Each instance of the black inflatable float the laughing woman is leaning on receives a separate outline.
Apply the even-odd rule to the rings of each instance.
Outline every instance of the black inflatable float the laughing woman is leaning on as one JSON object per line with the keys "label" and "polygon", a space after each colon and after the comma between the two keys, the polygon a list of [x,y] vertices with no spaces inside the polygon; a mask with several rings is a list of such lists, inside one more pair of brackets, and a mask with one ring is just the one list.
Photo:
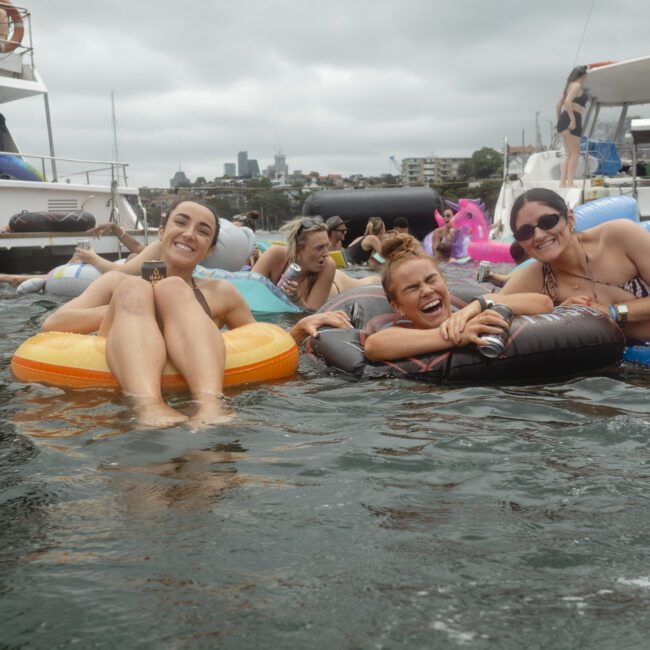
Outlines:
{"label": "black inflatable float the laughing woman is leaning on", "polygon": [[[452,299],[456,305],[464,301]],[[359,287],[328,301],[320,311],[342,309],[355,329],[321,328],[307,350],[333,368],[355,377],[394,375],[432,383],[535,383],[608,369],[623,358],[625,338],[602,312],[589,307],[557,307],[550,314],[517,316],[504,353],[487,359],[474,345],[407,359],[372,363],[365,338],[399,315],[381,287]],[[408,330],[405,330],[408,336]]]}

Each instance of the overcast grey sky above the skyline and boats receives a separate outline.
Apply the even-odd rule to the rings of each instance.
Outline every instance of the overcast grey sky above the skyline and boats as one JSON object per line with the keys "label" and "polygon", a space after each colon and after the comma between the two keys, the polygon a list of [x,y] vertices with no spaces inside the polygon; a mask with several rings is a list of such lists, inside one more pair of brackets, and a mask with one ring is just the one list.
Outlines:
{"label": "overcast grey sky above the skyline and boats", "polygon": [[[129,184],[261,169],[380,175],[419,156],[548,144],[574,65],[650,54],[647,0],[22,0],[56,154]],[[0,107],[48,150],[42,98]]]}

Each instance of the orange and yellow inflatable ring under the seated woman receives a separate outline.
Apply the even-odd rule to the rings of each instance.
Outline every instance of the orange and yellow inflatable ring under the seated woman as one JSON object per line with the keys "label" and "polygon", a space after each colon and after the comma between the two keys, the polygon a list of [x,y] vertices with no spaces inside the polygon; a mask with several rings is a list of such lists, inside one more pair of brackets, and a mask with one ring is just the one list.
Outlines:
{"label": "orange and yellow inflatable ring under the seated woman", "polygon": [[[290,377],[298,367],[298,347],[281,327],[251,323],[224,332],[225,386]],[[103,336],[41,332],[27,339],[14,353],[11,370],[20,381],[35,381],[68,388],[116,387],[106,363]],[[163,388],[183,389],[183,376],[167,361]]]}

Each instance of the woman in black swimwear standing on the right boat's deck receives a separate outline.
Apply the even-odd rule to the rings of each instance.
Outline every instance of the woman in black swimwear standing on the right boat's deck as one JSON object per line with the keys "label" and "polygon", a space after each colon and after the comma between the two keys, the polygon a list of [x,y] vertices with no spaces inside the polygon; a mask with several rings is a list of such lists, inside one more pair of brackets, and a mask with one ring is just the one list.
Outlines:
{"label": "woman in black swimwear standing on the right boat's deck", "polygon": [[589,99],[582,87],[586,78],[587,66],[581,65],[573,68],[564,86],[562,97],[556,106],[557,132],[564,140],[565,150],[560,187],[574,187],[573,179],[580,159],[582,111]]}

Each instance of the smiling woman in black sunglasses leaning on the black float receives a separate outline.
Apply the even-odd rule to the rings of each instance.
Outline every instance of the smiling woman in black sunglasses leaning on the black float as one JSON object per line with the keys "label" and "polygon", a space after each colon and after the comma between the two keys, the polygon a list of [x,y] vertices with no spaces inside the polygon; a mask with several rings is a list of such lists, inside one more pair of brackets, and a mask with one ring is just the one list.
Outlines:
{"label": "smiling woman in black sunglasses leaning on the black float", "polygon": [[536,263],[517,271],[503,293],[538,291],[556,305],[595,307],[628,338],[650,339],[650,233],[627,219],[581,233],[574,223],[573,211],[552,190],[522,194],[510,227]]}

